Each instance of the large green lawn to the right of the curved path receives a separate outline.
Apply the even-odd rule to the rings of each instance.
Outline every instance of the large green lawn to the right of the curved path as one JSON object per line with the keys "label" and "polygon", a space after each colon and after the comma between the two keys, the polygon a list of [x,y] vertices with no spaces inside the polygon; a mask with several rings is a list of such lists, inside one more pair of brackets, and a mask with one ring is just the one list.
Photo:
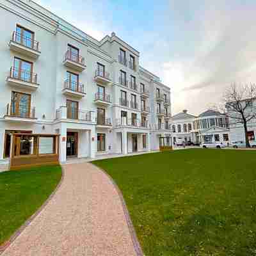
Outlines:
{"label": "large green lawn to the right of the curved path", "polygon": [[189,149],[93,161],[121,189],[145,255],[256,255],[256,152]]}

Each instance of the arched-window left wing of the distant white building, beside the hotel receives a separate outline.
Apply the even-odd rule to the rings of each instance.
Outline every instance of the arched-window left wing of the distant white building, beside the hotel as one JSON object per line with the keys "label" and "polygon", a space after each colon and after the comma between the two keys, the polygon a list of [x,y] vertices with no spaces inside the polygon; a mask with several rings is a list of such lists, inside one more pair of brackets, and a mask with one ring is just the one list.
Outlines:
{"label": "arched-window left wing of the distant white building, beside the hotel", "polygon": [[181,145],[183,142],[191,141],[191,131],[196,116],[188,114],[185,109],[181,113],[172,116],[172,138],[173,143]]}

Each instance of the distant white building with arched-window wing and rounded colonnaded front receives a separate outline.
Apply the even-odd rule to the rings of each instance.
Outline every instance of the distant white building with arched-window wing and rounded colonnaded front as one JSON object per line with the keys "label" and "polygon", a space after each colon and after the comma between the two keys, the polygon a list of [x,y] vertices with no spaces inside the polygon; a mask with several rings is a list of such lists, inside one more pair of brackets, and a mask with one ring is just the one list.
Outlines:
{"label": "distant white building with arched-window wing and rounded colonnaded front", "polygon": [[229,122],[225,114],[209,109],[199,116],[187,110],[172,117],[173,143],[229,143]]}

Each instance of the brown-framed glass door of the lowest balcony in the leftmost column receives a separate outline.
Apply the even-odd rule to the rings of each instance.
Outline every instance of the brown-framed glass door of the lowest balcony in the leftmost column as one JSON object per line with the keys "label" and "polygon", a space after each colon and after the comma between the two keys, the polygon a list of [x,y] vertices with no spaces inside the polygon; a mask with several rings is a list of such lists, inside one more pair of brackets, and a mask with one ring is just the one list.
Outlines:
{"label": "brown-framed glass door of the lowest balcony in the leftmost column", "polygon": [[29,118],[31,106],[31,95],[26,93],[12,92],[10,114],[22,118]]}

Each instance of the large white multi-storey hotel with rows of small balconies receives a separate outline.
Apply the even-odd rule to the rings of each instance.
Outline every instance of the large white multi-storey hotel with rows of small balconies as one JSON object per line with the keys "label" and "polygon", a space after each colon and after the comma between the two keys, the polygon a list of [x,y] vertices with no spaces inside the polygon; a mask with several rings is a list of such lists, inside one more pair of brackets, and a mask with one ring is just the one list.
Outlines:
{"label": "large white multi-storey hotel with rows of small balconies", "polygon": [[13,132],[60,134],[61,162],[169,141],[170,88],[115,33],[95,40],[25,0],[0,0],[0,20],[0,163]]}

